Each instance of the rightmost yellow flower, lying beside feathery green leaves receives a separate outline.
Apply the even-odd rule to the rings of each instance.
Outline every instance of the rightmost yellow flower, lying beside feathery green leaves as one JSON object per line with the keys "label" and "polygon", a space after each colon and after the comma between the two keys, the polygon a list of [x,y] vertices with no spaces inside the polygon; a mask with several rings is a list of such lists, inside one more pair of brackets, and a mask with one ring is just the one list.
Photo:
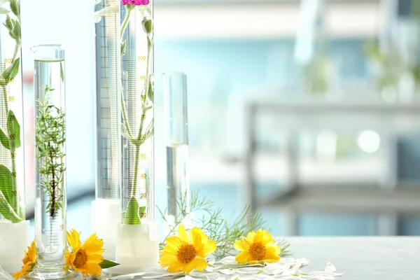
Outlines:
{"label": "rightmost yellow flower, lying beside feathery green leaves", "polygon": [[235,249],[240,251],[235,260],[239,264],[253,265],[260,262],[280,260],[280,247],[274,243],[272,235],[265,230],[248,232],[242,240],[235,241]]}

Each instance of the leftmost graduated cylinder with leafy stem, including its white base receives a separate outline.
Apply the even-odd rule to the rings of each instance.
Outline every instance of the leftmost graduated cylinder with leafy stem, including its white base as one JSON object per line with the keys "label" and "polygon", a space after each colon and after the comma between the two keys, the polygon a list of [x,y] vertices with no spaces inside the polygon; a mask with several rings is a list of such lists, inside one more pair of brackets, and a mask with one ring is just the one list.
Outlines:
{"label": "leftmost graduated cylinder with leafy stem, including its white base", "polygon": [[29,221],[25,221],[20,1],[8,5],[8,12],[0,14],[0,265],[6,272],[16,272],[29,245]]}

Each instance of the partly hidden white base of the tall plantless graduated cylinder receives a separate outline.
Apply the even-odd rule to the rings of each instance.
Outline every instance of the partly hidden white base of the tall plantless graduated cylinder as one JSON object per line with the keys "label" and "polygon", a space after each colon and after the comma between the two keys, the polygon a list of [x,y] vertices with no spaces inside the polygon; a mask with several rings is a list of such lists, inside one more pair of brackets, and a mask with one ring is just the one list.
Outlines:
{"label": "partly hidden white base of the tall plantless graduated cylinder", "polygon": [[117,231],[120,223],[120,200],[96,199],[92,202],[92,233],[104,240],[106,260],[116,259]]}

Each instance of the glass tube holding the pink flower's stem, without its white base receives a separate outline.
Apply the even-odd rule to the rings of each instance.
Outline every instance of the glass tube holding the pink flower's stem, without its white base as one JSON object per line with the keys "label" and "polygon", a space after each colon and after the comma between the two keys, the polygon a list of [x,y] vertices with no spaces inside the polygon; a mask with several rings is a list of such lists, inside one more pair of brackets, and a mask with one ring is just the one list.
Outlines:
{"label": "glass tube holding the pink flower's stem, without its white base", "polygon": [[123,5],[122,189],[123,224],[153,221],[153,11]]}

